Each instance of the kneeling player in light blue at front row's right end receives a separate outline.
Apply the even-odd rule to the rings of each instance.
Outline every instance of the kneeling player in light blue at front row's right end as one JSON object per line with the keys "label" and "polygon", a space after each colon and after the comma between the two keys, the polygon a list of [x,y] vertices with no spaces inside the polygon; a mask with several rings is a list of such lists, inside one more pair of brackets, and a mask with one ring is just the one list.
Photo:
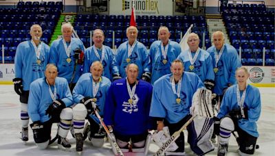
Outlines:
{"label": "kneeling player in light blue at front row's right end", "polygon": [[236,70],[237,84],[226,90],[219,114],[216,120],[220,125],[216,131],[219,135],[218,155],[226,155],[228,141],[232,131],[239,134],[239,154],[252,155],[256,140],[259,137],[256,121],[261,114],[261,95],[258,88],[247,83],[248,69],[245,67]]}

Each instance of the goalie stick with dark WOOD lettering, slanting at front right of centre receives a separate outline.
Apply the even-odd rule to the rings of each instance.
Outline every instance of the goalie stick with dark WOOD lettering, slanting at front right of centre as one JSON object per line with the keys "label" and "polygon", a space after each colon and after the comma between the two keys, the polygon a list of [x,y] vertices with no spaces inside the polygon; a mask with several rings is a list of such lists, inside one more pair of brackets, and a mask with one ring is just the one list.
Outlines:
{"label": "goalie stick with dark WOOD lettering, slanting at front right of centre", "polygon": [[177,140],[177,138],[179,138],[179,135],[181,133],[181,131],[184,131],[184,129],[192,122],[192,120],[196,117],[192,116],[182,127],[181,129],[179,129],[179,131],[176,131],[175,133],[173,133],[173,135],[171,136],[170,139],[168,139],[161,148],[159,148],[159,150],[154,154],[154,156],[158,156],[158,155],[162,155],[162,153],[164,153],[164,151],[166,151],[166,149],[173,143],[175,142],[175,140]]}

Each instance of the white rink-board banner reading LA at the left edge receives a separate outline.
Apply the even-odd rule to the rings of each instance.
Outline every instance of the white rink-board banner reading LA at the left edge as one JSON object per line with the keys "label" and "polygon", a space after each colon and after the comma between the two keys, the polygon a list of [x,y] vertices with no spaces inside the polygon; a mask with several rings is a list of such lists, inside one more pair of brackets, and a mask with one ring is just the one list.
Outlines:
{"label": "white rink-board banner reading LA at the left edge", "polygon": [[0,64],[0,83],[12,81],[14,77],[14,64]]}

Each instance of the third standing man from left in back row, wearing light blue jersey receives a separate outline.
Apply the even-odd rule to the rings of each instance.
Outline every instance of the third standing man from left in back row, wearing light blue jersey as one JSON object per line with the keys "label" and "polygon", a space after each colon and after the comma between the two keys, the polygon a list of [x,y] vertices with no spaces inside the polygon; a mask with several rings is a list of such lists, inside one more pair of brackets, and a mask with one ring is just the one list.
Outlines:
{"label": "third standing man from left in back row, wearing light blue jersey", "polygon": [[90,66],[94,61],[100,61],[104,67],[103,76],[112,80],[111,63],[113,62],[113,51],[110,47],[103,45],[104,33],[101,29],[93,32],[94,45],[85,50],[85,61],[83,73],[90,72]]}

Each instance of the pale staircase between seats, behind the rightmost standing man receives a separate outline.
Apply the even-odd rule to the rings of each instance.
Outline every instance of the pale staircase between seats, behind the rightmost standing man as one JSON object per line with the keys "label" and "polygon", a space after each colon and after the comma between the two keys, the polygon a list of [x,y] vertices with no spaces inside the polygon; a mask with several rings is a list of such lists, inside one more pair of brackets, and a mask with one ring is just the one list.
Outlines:
{"label": "pale staircase between seats, behind the rightmost standing man", "polygon": [[209,27],[209,33],[212,41],[214,31],[222,31],[224,33],[225,43],[230,44],[230,40],[225,29],[223,18],[220,14],[206,14],[206,23]]}

